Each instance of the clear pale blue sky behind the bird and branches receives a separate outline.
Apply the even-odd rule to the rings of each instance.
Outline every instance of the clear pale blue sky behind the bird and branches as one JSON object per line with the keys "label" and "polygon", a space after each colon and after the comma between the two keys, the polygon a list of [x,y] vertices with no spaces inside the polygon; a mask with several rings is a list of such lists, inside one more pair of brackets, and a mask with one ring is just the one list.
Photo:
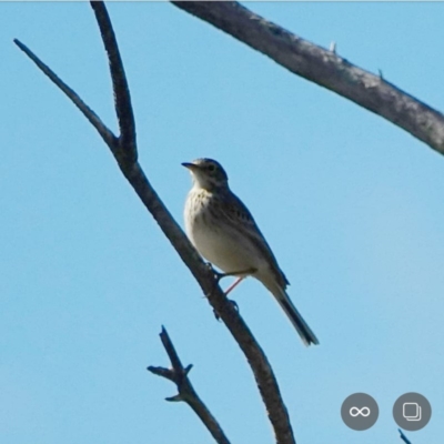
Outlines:
{"label": "clear pale blue sky behind the bird and branches", "polygon": [[[443,3],[248,6],[444,110]],[[218,159],[321,341],[305,349],[258,282],[235,291],[297,443],[401,443],[392,407],[414,391],[433,416],[406,435],[441,444],[443,157],[171,4],[109,11],[152,184],[182,223],[180,163]],[[238,345],[102,140],[13,38],[115,128],[89,4],[1,3],[0,442],[211,442],[145,370],[169,364],[162,324],[232,442],[272,442]],[[355,392],[380,406],[366,432],[340,416]]]}

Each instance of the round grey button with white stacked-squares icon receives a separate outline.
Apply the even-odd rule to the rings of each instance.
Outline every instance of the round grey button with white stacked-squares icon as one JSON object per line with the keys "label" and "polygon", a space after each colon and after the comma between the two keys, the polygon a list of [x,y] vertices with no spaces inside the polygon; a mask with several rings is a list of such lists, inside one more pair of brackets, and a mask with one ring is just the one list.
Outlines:
{"label": "round grey button with white stacked-squares icon", "polygon": [[432,406],[420,393],[405,393],[396,400],[393,417],[401,428],[416,432],[427,425],[432,417]]}

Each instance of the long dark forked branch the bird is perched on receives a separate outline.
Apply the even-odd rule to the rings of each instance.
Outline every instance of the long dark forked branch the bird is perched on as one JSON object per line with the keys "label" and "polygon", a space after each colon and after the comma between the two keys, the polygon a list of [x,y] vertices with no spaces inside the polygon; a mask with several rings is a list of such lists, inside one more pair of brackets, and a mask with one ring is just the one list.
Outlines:
{"label": "long dark forked branch the bird is perched on", "polygon": [[202,261],[199,253],[192,246],[181,228],[174,221],[154,189],[151,186],[142,168],[137,162],[135,124],[131,98],[112,24],[108,18],[104,4],[98,1],[92,1],[91,3],[98,18],[101,36],[109,57],[110,72],[115,95],[114,105],[121,131],[119,138],[115,138],[103,124],[100,118],[79,98],[79,95],[62,82],[58,75],[40,61],[36,54],[18,40],[14,40],[14,42],[38,65],[38,68],[67,94],[67,97],[81,110],[83,115],[92,123],[102,137],[113,153],[122,173],[131,183],[143,204],[153,215],[182,261],[190,269],[203,293],[208,296],[211,306],[222,319],[244,353],[253,371],[256,385],[265,404],[269,420],[274,430],[276,443],[294,444],[295,440],[290,424],[290,417],[283,403],[276,379],[265,354],[239,312],[225,297],[215,280],[213,271]]}

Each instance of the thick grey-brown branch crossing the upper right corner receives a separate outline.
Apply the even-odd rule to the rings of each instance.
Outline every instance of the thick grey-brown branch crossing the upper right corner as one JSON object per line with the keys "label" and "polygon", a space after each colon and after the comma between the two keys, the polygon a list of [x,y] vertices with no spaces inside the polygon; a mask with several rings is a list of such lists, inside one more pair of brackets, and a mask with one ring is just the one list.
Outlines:
{"label": "thick grey-brown branch crossing the upper right corner", "polygon": [[291,72],[379,114],[444,154],[444,115],[374,75],[233,1],[173,1]]}

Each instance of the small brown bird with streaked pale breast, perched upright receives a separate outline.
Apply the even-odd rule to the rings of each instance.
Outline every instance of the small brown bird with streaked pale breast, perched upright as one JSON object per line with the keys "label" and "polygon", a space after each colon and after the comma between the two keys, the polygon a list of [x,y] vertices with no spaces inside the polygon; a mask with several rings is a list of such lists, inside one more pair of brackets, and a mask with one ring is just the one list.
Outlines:
{"label": "small brown bird with streaked pale breast, perched upright", "polygon": [[319,340],[286,293],[290,284],[253,215],[231,191],[213,159],[183,162],[192,175],[184,208],[185,232],[198,252],[225,274],[259,280],[275,297],[305,345]]}

